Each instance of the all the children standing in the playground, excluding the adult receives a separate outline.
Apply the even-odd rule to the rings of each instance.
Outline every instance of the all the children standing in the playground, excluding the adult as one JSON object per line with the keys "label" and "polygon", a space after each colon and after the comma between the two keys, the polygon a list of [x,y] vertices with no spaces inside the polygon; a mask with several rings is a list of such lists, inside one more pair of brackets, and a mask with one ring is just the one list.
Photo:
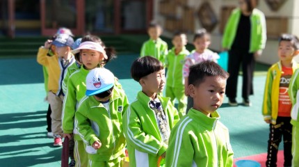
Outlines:
{"label": "all the children standing in the playground, excluding the adult", "polygon": [[[208,49],[209,33],[204,29],[195,33],[191,54],[186,34],[175,33],[174,47],[168,51],[161,33],[158,24],[149,26],[150,39],[131,65],[131,77],[142,90],[130,104],[118,79],[104,68],[115,51],[97,36],[86,35],[74,42],[72,33],[57,33],[40,47],[38,63],[49,75],[47,100],[54,146],[62,145],[61,138],[74,141],[70,142],[74,150],[70,166],[122,166],[126,149],[129,166],[233,166],[229,132],[216,111],[223,103],[229,74],[217,64],[218,54]],[[298,54],[297,42],[293,35],[280,38],[280,62],[268,72],[263,106],[265,121],[270,123],[267,166],[276,164],[282,134],[285,155],[291,156],[291,102],[295,104],[293,143],[299,138],[299,70],[290,87],[280,82],[289,81],[298,66],[292,61]],[[49,49],[54,51],[51,56]],[[291,102],[286,104],[288,88]],[[294,147],[293,162],[286,160],[284,166],[299,164],[299,149]]]}

